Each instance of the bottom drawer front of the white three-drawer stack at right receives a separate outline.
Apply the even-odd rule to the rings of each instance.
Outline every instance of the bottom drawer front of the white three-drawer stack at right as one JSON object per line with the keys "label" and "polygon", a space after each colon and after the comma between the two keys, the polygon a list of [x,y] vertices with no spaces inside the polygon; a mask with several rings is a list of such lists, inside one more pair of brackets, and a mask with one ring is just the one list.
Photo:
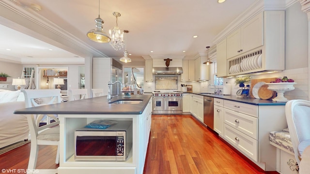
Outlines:
{"label": "bottom drawer front of the white three-drawer stack at right", "polygon": [[240,152],[258,162],[258,141],[224,124],[224,138]]}

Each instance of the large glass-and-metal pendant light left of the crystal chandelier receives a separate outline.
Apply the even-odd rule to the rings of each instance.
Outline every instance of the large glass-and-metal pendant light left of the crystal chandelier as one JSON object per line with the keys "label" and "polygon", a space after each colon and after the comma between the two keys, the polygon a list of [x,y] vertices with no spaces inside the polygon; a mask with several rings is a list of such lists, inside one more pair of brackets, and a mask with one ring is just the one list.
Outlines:
{"label": "large glass-and-metal pendant light left of the crystal chandelier", "polygon": [[99,0],[99,14],[98,17],[95,18],[96,22],[96,29],[91,29],[87,32],[87,37],[98,43],[109,43],[111,41],[111,38],[108,36],[107,33],[103,31],[103,24],[105,23],[101,18],[100,18],[100,0]]}

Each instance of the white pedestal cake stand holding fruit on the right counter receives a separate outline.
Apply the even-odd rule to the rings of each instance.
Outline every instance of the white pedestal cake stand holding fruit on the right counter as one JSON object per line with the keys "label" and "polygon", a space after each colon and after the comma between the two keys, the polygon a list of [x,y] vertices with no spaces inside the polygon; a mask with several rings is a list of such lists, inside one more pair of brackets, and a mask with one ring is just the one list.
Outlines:
{"label": "white pedestal cake stand holding fruit on the right counter", "polygon": [[280,82],[280,83],[266,83],[268,89],[277,92],[277,97],[273,98],[274,102],[287,102],[287,98],[284,97],[284,92],[291,91],[295,87],[295,82]]}

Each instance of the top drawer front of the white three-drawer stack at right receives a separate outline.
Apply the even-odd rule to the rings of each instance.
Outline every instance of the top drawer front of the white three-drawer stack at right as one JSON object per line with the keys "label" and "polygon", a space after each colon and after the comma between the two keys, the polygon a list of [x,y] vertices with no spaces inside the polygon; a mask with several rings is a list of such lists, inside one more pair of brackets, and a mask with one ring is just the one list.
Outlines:
{"label": "top drawer front of the white three-drawer stack at right", "polygon": [[249,116],[258,117],[258,106],[256,105],[224,100],[224,107]]}

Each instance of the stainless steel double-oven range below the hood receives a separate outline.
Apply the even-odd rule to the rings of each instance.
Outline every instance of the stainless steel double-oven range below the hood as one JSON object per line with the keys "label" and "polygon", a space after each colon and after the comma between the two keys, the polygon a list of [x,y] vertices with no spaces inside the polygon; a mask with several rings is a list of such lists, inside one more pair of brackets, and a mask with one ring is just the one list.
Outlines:
{"label": "stainless steel double-oven range below the hood", "polygon": [[182,114],[183,92],[153,92],[153,114]]}

